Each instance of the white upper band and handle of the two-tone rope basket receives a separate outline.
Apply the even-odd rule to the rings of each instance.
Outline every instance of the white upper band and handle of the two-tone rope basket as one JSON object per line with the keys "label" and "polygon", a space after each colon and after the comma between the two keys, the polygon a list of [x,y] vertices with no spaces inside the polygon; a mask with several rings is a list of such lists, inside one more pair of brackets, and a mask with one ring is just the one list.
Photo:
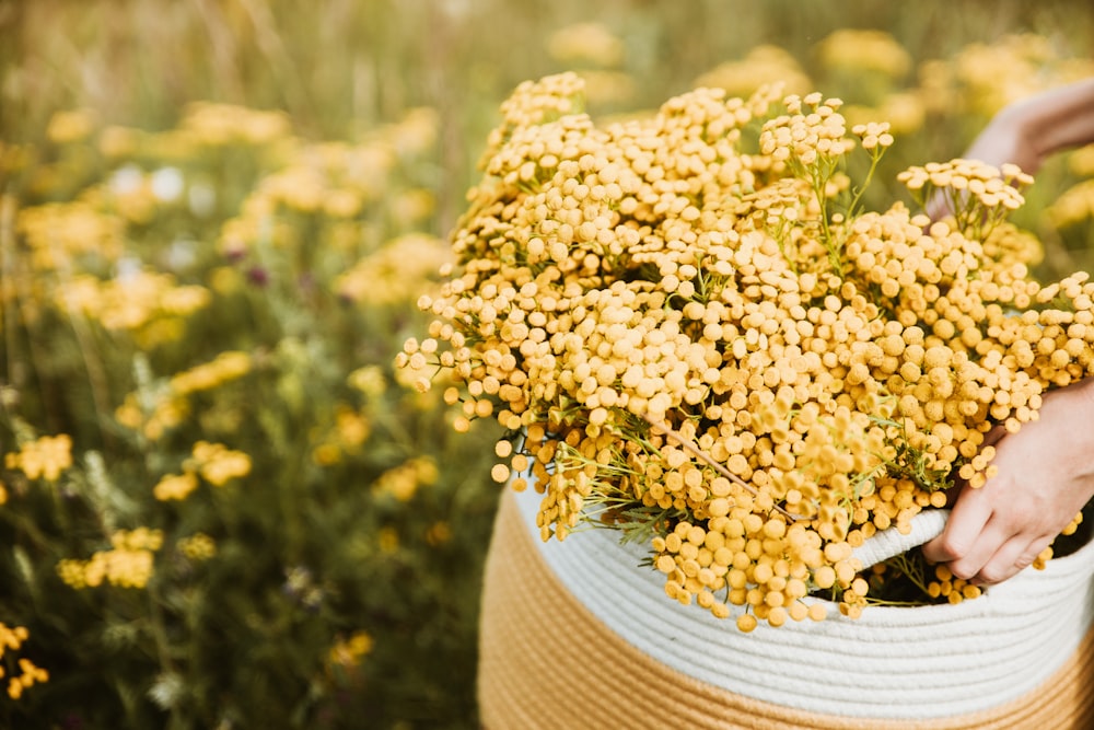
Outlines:
{"label": "white upper band and handle of the two-tone rope basket", "polygon": [[[640,565],[642,545],[587,530],[543,543],[540,496],[515,495],[543,560],[565,588],[615,634],[691,679],[782,707],[841,717],[930,720],[1000,707],[1041,686],[1071,657],[1094,619],[1094,544],[1028,568],[956,605],[869,606],[861,617],[834,604],[823,622],[764,624],[738,631],[664,592],[663,576]],[[944,511],[911,533],[888,530],[857,556],[871,565],[938,535]]]}

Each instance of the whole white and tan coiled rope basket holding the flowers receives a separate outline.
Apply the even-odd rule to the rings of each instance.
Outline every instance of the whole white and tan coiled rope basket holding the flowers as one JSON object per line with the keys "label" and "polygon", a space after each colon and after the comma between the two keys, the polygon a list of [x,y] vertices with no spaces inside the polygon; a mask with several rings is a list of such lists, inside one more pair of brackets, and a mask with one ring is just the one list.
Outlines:
{"label": "whole white and tan coiled rope basket holding the flowers", "polygon": [[[666,600],[609,531],[544,544],[539,496],[507,493],[487,559],[482,725],[505,728],[1094,727],[1094,545],[958,605],[866,609],[736,630]],[[864,564],[926,542],[881,533]]]}

